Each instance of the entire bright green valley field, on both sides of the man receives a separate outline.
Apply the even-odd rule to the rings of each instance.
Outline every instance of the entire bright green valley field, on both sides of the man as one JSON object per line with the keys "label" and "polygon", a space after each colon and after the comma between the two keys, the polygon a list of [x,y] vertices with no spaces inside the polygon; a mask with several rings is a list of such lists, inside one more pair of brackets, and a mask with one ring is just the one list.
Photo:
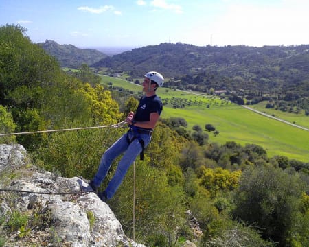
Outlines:
{"label": "entire bright green valley field, on both sides of the man", "polygon": [[[141,92],[141,86],[125,82],[124,80],[104,77],[104,84],[108,82],[112,82],[113,86]],[[264,117],[253,113],[251,110],[209,95],[194,95],[165,88],[159,89],[158,95],[163,100],[179,98],[179,100],[203,102],[201,104],[185,106],[185,108],[181,109],[174,109],[172,106],[165,105],[161,117],[183,117],[188,123],[187,130],[192,130],[192,126],[195,124],[198,124],[203,129],[205,124],[214,125],[219,134],[215,137],[214,134],[209,132],[210,142],[223,144],[226,141],[235,141],[242,145],[254,143],[262,146],[270,157],[282,155],[299,161],[309,162],[309,132],[306,130]],[[209,105],[209,108],[206,107],[207,105]],[[263,106],[257,106],[256,109],[268,113]],[[274,113],[269,112],[268,114],[272,115]],[[275,117],[290,122],[295,121],[295,124],[306,128],[309,127],[309,117],[305,115],[293,115],[293,113],[286,115],[275,111]]]}

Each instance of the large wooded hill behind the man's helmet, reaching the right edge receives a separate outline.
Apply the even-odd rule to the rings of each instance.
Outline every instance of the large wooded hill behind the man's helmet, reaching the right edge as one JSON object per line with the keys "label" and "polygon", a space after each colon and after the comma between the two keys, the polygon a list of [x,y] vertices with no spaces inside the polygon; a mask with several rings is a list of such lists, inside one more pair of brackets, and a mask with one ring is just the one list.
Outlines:
{"label": "large wooded hill behind the man's helmet, reaching the right edge", "polygon": [[114,73],[127,71],[133,78],[145,71],[160,71],[165,78],[175,78],[170,86],[198,91],[224,89],[238,95],[246,91],[252,97],[297,93],[290,99],[309,96],[309,45],[198,47],[162,43],[104,58],[93,67]]}

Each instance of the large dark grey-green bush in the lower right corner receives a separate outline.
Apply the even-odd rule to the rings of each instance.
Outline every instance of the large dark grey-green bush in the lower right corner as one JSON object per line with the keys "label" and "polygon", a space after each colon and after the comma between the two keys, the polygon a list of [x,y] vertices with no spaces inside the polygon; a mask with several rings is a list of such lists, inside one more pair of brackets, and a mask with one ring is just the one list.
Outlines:
{"label": "large dark grey-green bush in the lower right corner", "polygon": [[233,216],[256,224],[264,239],[290,246],[303,189],[297,174],[271,166],[247,167],[234,196]]}

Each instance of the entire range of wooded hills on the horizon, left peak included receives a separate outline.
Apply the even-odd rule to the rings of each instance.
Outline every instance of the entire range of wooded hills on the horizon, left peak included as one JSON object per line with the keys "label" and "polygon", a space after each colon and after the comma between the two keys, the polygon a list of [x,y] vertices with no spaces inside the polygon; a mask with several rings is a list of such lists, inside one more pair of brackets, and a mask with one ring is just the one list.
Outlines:
{"label": "entire range of wooded hills on the horizon, left peak included", "polygon": [[161,43],[102,59],[96,55],[98,51],[50,40],[43,47],[62,67],[87,63],[97,72],[127,75],[129,80],[155,70],[167,79],[167,87],[222,92],[222,97],[237,104],[269,101],[267,107],[309,115],[309,45],[198,47]]}

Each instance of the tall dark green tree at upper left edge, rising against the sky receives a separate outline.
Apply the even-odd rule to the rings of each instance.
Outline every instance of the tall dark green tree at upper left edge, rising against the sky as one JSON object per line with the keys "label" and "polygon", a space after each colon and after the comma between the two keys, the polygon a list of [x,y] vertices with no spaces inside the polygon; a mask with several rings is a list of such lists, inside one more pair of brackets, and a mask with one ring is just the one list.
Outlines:
{"label": "tall dark green tree at upper left edge, rising against the sky", "polygon": [[18,104],[37,107],[44,100],[40,89],[59,81],[61,71],[55,58],[24,35],[25,29],[19,25],[0,27],[0,104],[4,106],[16,106],[10,94],[24,86],[29,89],[27,97],[19,98]]}

